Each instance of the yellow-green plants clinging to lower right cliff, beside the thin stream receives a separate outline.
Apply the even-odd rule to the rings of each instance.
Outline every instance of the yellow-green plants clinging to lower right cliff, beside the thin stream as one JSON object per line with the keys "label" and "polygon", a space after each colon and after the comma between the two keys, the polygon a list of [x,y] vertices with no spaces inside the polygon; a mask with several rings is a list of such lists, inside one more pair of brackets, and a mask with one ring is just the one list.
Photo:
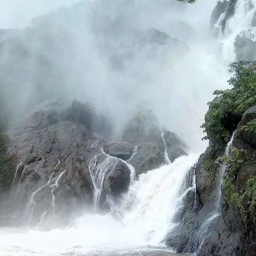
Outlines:
{"label": "yellow-green plants clinging to lower right cliff, beside the thin stream", "polygon": [[248,162],[245,158],[246,151],[232,148],[230,156],[224,156],[221,160],[228,164],[227,176],[225,178],[226,196],[239,210],[241,223],[246,227],[251,219],[256,224],[256,175],[252,175],[246,182],[242,191],[236,190],[236,177],[238,171],[246,165],[254,165],[255,159]]}

